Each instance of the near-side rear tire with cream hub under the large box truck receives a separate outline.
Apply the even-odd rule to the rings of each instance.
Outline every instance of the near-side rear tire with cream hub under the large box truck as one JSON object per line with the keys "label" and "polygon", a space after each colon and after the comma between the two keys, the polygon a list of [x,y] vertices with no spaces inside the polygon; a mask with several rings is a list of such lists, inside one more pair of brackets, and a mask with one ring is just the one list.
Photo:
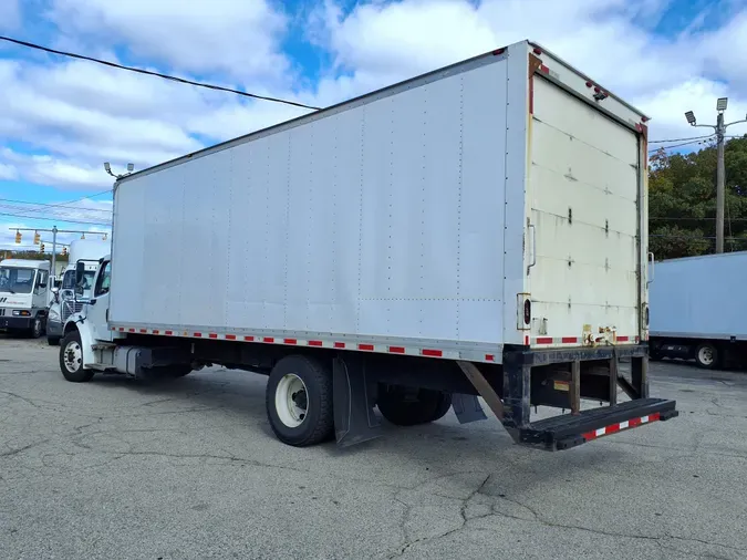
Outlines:
{"label": "near-side rear tire with cream hub under the large box truck", "polygon": [[272,432],[284,444],[305,447],[334,436],[332,372],[314,359],[280,360],[270,372],[264,405]]}

